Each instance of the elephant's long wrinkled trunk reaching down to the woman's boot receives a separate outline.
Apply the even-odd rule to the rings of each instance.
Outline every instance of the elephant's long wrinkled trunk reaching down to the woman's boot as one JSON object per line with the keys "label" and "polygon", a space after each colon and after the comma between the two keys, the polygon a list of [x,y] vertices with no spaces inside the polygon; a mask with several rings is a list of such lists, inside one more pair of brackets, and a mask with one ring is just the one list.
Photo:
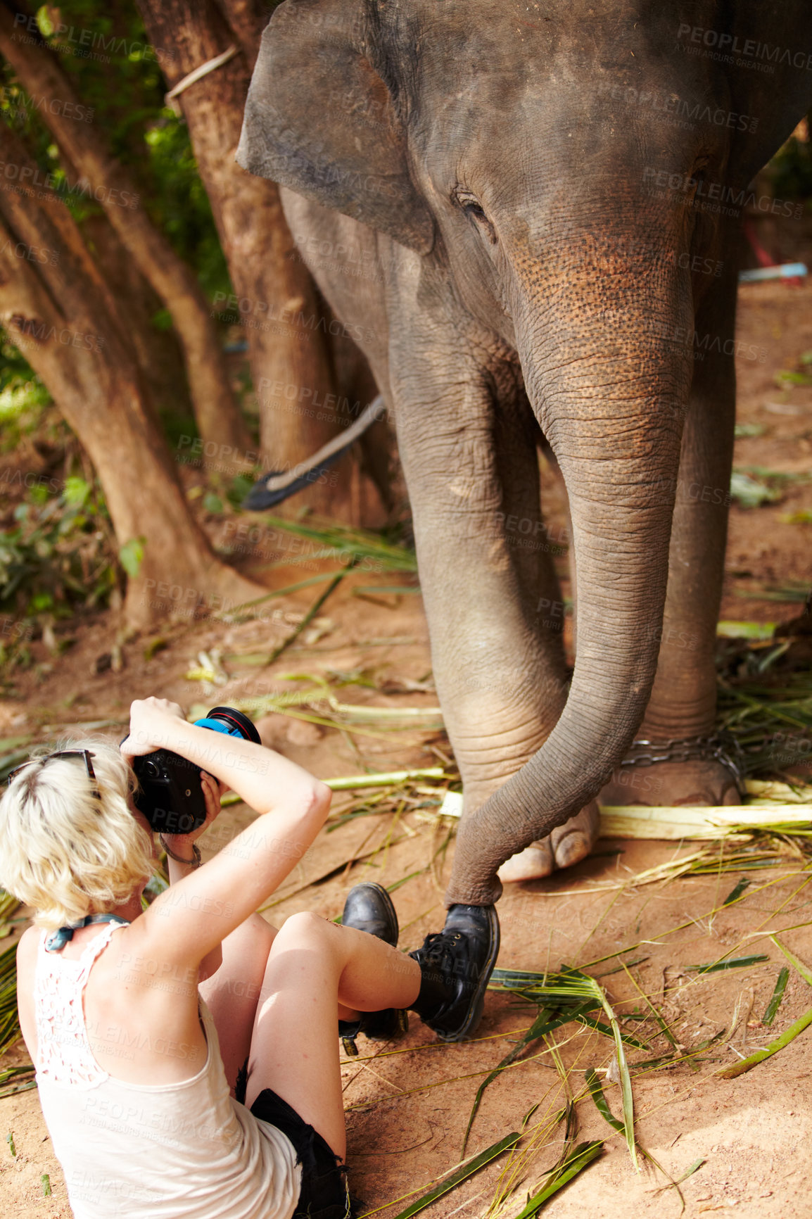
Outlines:
{"label": "elephant's long wrinkled trunk reaching down to the woman's boot", "polygon": [[[652,296],[638,283],[610,310],[611,325],[605,308],[585,325],[586,285],[568,286],[558,306],[555,293],[544,302],[521,294],[515,317],[528,394],[569,496],[575,667],[547,740],[463,818],[447,904],[495,901],[496,868],[597,795],[634,739],[657,667],[693,363],[690,290],[661,280]],[[607,295],[604,284],[602,302]],[[663,297],[671,307],[655,318],[651,302]],[[578,333],[567,300],[579,307]]]}

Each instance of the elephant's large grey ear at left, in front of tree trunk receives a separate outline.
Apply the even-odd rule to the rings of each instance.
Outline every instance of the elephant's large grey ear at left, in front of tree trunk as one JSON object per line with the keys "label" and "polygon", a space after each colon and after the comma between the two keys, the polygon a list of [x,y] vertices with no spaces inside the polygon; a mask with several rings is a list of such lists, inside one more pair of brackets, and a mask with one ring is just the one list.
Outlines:
{"label": "elephant's large grey ear at left, in front of tree trunk", "polygon": [[262,34],[237,160],[244,169],[428,254],[432,213],[371,60],[362,0],[288,0]]}

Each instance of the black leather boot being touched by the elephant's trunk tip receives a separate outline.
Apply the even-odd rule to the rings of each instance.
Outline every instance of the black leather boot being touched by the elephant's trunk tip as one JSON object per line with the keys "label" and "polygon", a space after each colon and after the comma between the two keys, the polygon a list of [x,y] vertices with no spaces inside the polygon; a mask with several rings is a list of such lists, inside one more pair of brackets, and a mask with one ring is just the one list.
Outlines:
{"label": "black leather boot being touched by the elephant's trunk tip", "polygon": [[495,906],[452,906],[443,930],[410,952],[422,975],[412,1011],[441,1041],[462,1041],[475,1032],[497,956]]}

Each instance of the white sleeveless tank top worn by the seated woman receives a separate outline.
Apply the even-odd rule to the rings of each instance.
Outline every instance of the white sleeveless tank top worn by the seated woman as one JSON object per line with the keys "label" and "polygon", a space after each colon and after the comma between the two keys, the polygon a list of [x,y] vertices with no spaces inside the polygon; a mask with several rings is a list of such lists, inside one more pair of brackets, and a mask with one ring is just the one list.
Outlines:
{"label": "white sleeveless tank top worn by the seated woman", "polygon": [[39,1100],[74,1219],[290,1219],[296,1151],[229,1096],[202,1000],[208,1053],[191,1079],[126,1084],[95,1061],[82,996],[119,925],[107,924],[77,961],[45,952],[43,935],[37,959]]}

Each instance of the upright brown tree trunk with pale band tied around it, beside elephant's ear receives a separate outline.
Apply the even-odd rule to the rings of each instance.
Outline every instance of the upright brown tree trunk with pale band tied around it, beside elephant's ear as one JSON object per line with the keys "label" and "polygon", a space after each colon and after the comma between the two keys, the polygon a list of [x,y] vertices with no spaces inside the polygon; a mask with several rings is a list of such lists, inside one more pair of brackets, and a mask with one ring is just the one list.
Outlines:
{"label": "upright brown tree trunk with pale band tied around it, beside elephant's ear", "polygon": [[[138,0],[148,34],[176,55],[162,65],[171,87],[230,44],[250,41],[254,6],[234,0],[234,33],[213,0]],[[232,4],[224,0],[232,15]],[[179,95],[189,133],[228,260],[234,297],[224,313],[245,327],[260,406],[265,469],[288,471],[341,432],[333,412],[308,406],[335,394],[327,319],[318,291],[296,256],[276,183],[245,173],[234,161],[250,80],[250,62],[238,54]],[[297,325],[282,319],[295,315]],[[329,399],[328,399],[329,400]],[[327,416],[324,418],[323,416]],[[323,484],[300,492],[302,503],[351,521],[357,516],[357,468],[344,457]]]}

